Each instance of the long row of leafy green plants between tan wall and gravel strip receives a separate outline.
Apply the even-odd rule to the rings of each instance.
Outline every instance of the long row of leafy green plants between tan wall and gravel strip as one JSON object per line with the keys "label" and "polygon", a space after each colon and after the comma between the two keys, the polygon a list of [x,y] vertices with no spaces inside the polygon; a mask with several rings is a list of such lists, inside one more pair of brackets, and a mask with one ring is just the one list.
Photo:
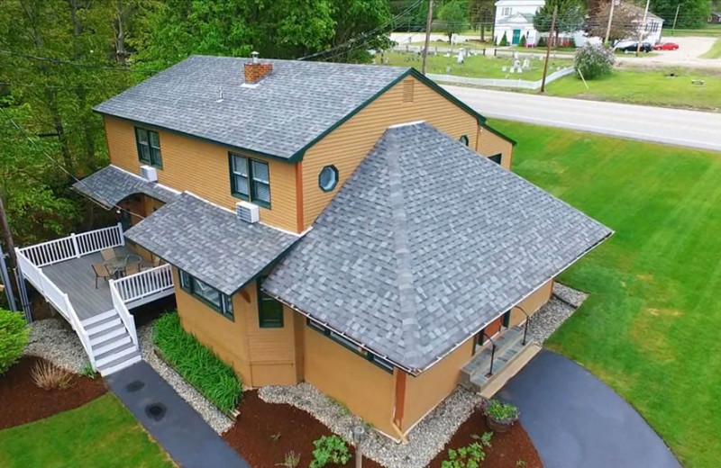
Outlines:
{"label": "long row of leafy green plants between tan wall and gravel strip", "polygon": [[178,313],[160,316],[155,322],[152,340],[178,374],[205,398],[220,410],[235,409],[242,397],[241,380],[230,365],[183,329]]}

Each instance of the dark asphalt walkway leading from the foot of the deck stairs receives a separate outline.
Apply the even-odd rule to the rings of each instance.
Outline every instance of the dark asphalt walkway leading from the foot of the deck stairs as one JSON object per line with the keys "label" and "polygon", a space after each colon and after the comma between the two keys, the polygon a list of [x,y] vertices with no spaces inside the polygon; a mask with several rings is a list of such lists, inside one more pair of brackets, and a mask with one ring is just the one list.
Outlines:
{"label": "dark asphalt walkway leading from the foot of the deck stairs", "polygon": [[[251,468],[147,363],[141,361],[105,380],[178,465]],[[162,406],[152,406],[157,403]]]}

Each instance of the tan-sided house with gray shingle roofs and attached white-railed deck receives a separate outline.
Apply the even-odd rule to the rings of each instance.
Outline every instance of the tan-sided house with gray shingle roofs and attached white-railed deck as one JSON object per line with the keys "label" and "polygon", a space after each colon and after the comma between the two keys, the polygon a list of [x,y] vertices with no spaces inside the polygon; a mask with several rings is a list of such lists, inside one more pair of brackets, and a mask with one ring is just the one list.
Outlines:
{"label": "tan-sided house with gray shingle roofs and attached white-railed deck", "polygon": [[110,166],[74,188],[129,227],[53,241],[50,269],[78,275],[88,235],[165,264],[111,280],[119,318],[78,321],[32,261],[45,247],[18,252],[105,373],[137,340],[118,357],[100,333],[132,335],[137,298],[170,287],[245,385],[312,383],[403,439],[464,370],[485,378],[486,350],[528,349],[555,276],[611,235],[510,172],[514,141],[412,68],[194,56],[96,112]]}

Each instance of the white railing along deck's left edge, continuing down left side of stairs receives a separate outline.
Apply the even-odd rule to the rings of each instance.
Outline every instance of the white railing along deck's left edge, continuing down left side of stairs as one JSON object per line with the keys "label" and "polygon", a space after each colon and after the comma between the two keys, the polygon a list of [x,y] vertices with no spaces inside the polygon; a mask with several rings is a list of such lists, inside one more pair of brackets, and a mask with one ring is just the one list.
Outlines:
{"label": "white railing along deck's left edge, continuing down left side of stairs", "polygon": [[37,289],[45,299],[52,304],[52,306],[59,311],[65,320],[68,320],[78,337],[80,343],[82,343],[87,356],[90,359],[90,365],[93,369],[96,368],[96,359],[93,356],[92,349],[90,347],[90,337],[87,335],[86,329],[80,323],[78,318],[78,312],[75,311],[73,305],[70,303],[67,293],[63,293],[59,290],[50,278],[46,276],[39,266],[35,266],[30,258],[26,257],[23,253],[23,249],[15,248],[15,254],[17,256],[17,263],[20,266],[20,270],[23,272],[23,276]]}

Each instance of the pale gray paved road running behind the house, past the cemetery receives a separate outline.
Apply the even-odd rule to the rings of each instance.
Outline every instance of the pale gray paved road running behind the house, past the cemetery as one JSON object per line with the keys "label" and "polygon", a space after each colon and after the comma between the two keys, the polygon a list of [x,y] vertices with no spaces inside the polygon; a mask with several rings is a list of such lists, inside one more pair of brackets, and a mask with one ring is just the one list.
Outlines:
{"label": "pale gray paved road running behind the house, past the cemetery", "polygon": [[443,87],[487,117],[721,151],[721,113]]}

